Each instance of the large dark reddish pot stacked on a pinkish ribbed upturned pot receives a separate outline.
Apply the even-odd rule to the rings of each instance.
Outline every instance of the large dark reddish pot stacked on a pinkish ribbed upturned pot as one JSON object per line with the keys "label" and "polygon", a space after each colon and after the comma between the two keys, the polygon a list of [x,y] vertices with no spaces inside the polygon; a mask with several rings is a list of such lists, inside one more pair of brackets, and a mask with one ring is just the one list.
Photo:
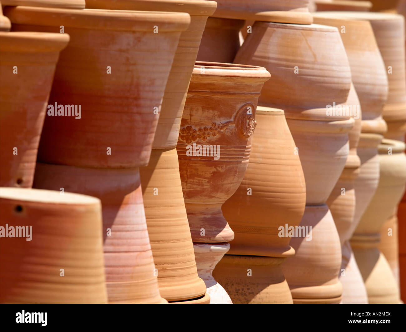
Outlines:
{"label": "large dark reddish pot stacked on a pinkish ribbed upturned pot", "polygon": [[81,105],[82,112],[46,117],[34,186],[101,199],[109,303],[166,303],[158,289],[139,167],[148,164],[158,124],[154,110],[161,107],[190,16],[23,6],[5,12],[14,30],[58,32],[63,26],[71,36],[50,105]]}

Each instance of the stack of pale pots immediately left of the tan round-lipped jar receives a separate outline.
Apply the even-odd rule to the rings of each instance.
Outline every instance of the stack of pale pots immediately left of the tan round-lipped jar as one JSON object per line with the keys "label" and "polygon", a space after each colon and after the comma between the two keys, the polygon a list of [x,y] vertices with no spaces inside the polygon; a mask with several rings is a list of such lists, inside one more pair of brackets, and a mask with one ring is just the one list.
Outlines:
{"label": "stack of pale pots immediately left of the tan round-lipped jar", "polygon": [[[378,186],[377,148],[383,138],[382,135],[387,130],[386,123],[382,119],[382,109],[387,100],[388,81],[371,25],[368,21],[348,17],[344,15],[345,13],[322,12],[315,13],[313,17],[317,23],[340,29],[341,39],[346,47],[351,66],[352,81],[363,110],[361,135],[357,148],[361,166],[358,176],[354,179],[355,212],[347,233],[351,236]],[[352,257],[352,253],[351,246],[347,243],[343,247],[343,264],[348,257]],[[345,288],[343,303],[365,303],[367,299],[356,263],[350,258],[347,268],[340,273],[345,273],[345,276],[341,277]]]}

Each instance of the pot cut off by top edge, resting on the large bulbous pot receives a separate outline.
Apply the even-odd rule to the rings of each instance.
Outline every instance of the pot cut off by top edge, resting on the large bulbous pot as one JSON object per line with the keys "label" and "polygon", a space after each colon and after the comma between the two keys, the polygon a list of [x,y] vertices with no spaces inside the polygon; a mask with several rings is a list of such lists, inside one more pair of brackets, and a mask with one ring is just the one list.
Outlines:
{"label": "pot cut off by top edge, resting on the large bulbous pot", "polygon": [[218,0],[214,17],[311,24],[309,0]]}

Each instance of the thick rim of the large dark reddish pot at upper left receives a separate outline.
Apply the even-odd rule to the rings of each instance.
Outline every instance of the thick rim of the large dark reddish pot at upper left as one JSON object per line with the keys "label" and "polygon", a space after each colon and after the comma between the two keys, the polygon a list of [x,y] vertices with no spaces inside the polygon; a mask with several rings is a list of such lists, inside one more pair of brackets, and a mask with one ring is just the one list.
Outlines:
{"label": "thick rim of the large dark reddish pot at upper left", "polygon": [[72,28],[118,31],[181,32],[190,24],[190,15],[180,12],[119,11],[108,9],[58,9],[45,7],[5,7],[12,24],[60,25]]}

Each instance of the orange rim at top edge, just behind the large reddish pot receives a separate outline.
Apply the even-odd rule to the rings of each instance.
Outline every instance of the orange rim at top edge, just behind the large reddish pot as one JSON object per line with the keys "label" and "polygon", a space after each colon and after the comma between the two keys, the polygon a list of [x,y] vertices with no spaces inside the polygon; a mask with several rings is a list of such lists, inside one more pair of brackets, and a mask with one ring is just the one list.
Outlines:
{"label": "orange rim at top edge, just behind the large reddish pot", "polygon": [[217,2],[207,0],[87,0],[88,9],[117,9],[126,11],[182,12],[193,16],[211,16]]}

